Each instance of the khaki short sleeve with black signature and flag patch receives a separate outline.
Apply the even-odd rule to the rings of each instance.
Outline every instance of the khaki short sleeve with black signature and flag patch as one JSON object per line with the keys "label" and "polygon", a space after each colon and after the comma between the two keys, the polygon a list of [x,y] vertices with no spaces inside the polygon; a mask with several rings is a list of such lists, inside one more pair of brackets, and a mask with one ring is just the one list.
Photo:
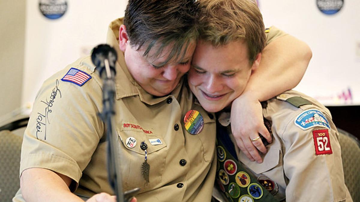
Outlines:
{"label": "khaki short sleeve with black signature and flag patch", "polygon": [[97,115],[102,98],[99,84],[94,78],[83,86],[61,81],[68,70],[46,80],[36,97],[24,133],[20,175],[38,167],[78,183],[103,136],[103,123]]}

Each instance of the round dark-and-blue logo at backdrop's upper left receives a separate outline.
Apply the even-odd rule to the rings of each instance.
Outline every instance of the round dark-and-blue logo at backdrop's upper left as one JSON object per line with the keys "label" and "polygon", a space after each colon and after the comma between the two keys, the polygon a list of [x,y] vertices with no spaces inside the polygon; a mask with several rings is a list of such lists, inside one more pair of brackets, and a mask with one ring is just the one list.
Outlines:
{"label": "round dark-and-blue logo at backdrop's upper left", "polygon": [[49,19],[61,18],[67,8],[66,0],[39,0],[40,12]]}

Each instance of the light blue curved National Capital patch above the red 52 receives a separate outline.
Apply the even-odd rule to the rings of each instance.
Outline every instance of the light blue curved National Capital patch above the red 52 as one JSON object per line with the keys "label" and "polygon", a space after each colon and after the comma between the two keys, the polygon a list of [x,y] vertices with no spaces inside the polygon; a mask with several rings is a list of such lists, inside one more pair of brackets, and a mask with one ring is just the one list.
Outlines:
{"label": "light blue curved National Capital patch above the red 52", "polygon": [[329,121],[325,115],[316,109],[308,109],[299,114],[294,120],[295,125],[306,130],[313,127],[323,127],[330,129]]}

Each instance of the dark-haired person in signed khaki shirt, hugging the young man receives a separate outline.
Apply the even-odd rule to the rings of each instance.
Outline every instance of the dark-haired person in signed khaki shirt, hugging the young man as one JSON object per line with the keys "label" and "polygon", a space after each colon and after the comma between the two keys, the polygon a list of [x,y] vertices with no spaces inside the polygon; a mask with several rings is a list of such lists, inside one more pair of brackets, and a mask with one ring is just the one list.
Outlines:
{"label": "dark-haired person in signed khaki shirt, hugging the young man", "polygon": [[[124,190],[141,188],[138,201],[211,199],[215,118],[194,102],[183,78],[197,39],[196,6],[184,0],[131,0],[124,22],[117,19],[109,27],[107,42],[118,52],[122,184]],[[163,29],[157,29],[159,24]],[[24,134],[22,193],[14,201],[114,200],[93,196],[113,194],[100,111],[102,81],[90,57],[44,82]],[[148,180],[141,168],[145,158]]]}

